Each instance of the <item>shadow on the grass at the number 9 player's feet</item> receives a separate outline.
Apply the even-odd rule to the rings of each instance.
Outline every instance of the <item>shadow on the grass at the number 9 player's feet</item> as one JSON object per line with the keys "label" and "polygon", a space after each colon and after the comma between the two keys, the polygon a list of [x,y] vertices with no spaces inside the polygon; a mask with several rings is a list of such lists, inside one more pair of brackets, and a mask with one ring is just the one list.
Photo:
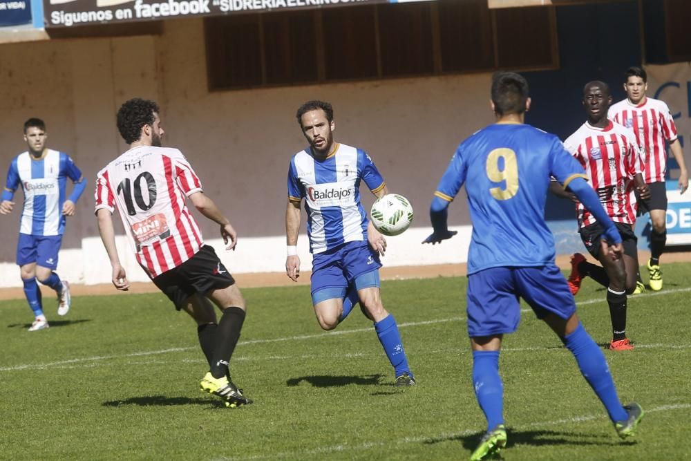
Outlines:
{"label": "shadow on the grass at the number 9 player's feet", "polygon": [[[473,451],[480,444],[484,432],[472,435],[452,435],[446,438],[430,438],[425,444],[436,444],[458,440],[464,449]],[[612,435],[592,435],[576,432],[557,431],[513,431],[507,429],[507,449],[515,445],[550,446],[550,445],[596,445],[596,446],[621,446],[635,444],[636,442],[621,442]],[[505,453],[505,452],[502,452]],[[500,458],[498,458],[500,459]]]}

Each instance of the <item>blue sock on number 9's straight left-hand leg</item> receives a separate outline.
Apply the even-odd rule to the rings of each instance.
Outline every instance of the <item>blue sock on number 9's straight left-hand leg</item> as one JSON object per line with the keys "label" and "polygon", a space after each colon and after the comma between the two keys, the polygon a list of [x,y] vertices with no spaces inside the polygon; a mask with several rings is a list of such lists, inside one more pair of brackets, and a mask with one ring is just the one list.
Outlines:
{"label": "blue sock on number 9's straight left-hand leg", "polygon": [[473,350],[473,388],[487,420],[487,431],[504,424],[504,386],[498,350]]}

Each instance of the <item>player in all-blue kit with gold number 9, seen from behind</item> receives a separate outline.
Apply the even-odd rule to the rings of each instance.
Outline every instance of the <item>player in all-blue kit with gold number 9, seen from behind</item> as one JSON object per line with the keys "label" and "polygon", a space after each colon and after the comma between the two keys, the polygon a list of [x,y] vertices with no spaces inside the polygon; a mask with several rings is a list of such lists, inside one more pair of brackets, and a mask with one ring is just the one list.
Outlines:
{"label": "player in all-blue kit with gold number 9, seen from behind", "polygon": [[545,224],[550,177],[578,196],[605,228],[603,252],[621,258],[614,223],[585,180],[583,167],[555,135],[524,124],[528,84],[515,73],[492,80],[491,106],[497,122],[460,144],[439,182],[430,207],[433,234],[424,243],[451,238],[448,204],[466,186],[473,234],[468,253],[468,336],[473,350],[475,397],[487,419],[487,432],[471,460],[482,460],[507,444],[503,388],[499,376],[502,337],[520,321],[524,299],[574,354],[621,438],[634,435],[643,410],[622,406],[603,352],[576,315],[576,304],[554,264],[554,242]]}

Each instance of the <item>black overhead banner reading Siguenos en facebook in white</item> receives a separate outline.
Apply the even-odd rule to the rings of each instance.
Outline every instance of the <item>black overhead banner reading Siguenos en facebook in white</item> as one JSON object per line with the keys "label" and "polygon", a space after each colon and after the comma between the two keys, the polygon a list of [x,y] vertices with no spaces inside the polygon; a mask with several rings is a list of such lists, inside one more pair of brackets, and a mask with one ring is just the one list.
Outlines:
{"label": "black overhead banner reading Siguenos en facebook in white", "polygon": [[[0,0],[1,1],[1,0]],[[400,1],[400,0],[399,0]],[[388,3],[387,0],[44,0],[46,28],[160,21],[301,8]],[[397,3],[397,2],[393,2]]]}

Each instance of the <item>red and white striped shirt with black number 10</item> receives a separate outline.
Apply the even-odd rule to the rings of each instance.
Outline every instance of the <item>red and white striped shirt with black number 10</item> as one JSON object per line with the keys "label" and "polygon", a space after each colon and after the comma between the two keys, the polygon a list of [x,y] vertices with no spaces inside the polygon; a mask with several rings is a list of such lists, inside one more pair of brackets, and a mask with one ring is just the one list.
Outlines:
{"label": "red and white striped shirt with black number 10", "polygon": [[185,198],[202,185],[178,149],[140,146],[96,178],[95,211],[120,212],[138,263],[153,277],[187,261],[204,244]]}

